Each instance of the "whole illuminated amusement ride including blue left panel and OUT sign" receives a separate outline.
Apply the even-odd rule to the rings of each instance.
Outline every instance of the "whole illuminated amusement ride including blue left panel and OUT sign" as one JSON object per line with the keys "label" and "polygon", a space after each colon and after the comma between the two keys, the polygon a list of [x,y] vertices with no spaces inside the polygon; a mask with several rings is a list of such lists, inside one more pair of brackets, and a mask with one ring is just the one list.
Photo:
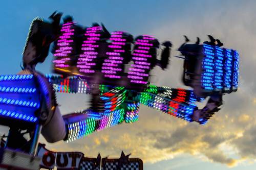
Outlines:
{"label": "whole illuminated amusement ride including blue left panel and OUT sign", "polygon": [[[182,81],[193,90],[175,89],[149,82],[155,66],[167,68],[170,41],[160,43],[151,35],[134,38],[124,31],[109,33],[97,23],[83,28],[71,16],[60,25],[61,16],[54,12],[50,22],[36,17],[24,47],[23,70],[0,76],[0,125],[10,127],[8,136],[2,138],[0,167],[38,169],[40,164],[48,169],[54,165],[57,169],[142,169],[140,159],[123,153],[115,163],[100,156],[83,158],[77,152],[51,152],[42,144],[38,147],[38,137],[42,134],[48,142],[70,142],[122,122],[133,123],[138,120],[140,105],[205,124],[220,110],[222,96],[238,89],[239,54],[222,48],[223,43],[212,36],[203,44],[199,38],[188,44],[185,36],[178,57],[184,59]],[[35,66],[45,61],[52,42],[53,75],[43,75]],[[62,116],[55,92],[91,94],[91,107]],[[208,96],[206,106],[198,109],[196,102]],[[85,167],[88,161],[92,166]],[[128,168],[132,162],[136,166]]]}

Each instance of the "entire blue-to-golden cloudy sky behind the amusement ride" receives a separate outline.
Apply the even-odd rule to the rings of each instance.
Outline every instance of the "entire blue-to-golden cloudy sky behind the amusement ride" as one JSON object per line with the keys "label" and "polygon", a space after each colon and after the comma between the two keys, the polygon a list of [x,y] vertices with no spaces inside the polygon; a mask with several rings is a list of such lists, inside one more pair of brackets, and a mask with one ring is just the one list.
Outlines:
{"label": "entire blue-to-golden cloudy sky behind the amusement ride", "polygon": [[[80,151],[86,156],[120,156],[121,150],[139,157],[144,169],[202,170],[256,169],[256,1],[1,1],[0,74],[20,71],[22,50],[34,17],[48,18],[55,10],[72,15],[80,25],[102,22],[109,31],[123,30],[134,36],[151,34],[177,48],[190,40],[207,40],[210,34],[240,54],[240,83],[236,93],[224,96],[225,105],[201,126],[186,123],[159,111],[140,107],[134,124],[122,124],[72,143],[50,144],[55,151]],[[52,54],[37,69],[51,71]],[[155,68],[152,84],[185,87],[181,83],[182,60],[172,57],[167,70]],[[63,114],[88,107],[89,95],[58,94]],[[7,129],[1,127],[0,134]],[[57,133],[57,132],[56,132]],[[43,137],[40,142],[46,143]]]}

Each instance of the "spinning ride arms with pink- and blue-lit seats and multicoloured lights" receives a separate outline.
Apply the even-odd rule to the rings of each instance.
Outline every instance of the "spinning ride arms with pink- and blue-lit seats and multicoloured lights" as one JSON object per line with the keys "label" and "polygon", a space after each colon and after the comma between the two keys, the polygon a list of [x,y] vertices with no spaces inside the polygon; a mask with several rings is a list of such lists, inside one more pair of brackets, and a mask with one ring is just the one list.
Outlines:
{"label": "spinning ride arms with pink- and blue-lit seats and multicoloured lights", "polygon": [[[123,121],[133,123],[138,120],[140,104],[188,122],[205,124],[220,110],[222,95],[237,90],[238,53],[220,48],[222,43],[215,42],[213,37],[209,36],[210,42],[202,45],[198,38],[196,44],[184,43],[179,48],[185,56],[183,82],[193,91],[157,87],[149,85],[150,70],[156,65],[162,69],[167,67],[172,43],[162,43],[164,49],[159,61],[159,42],[153,36],[138,36],[132,51],[133,36],[126,32],[110,34],[104,26],[95,23],[86,28],[83,36],[82,28],[72,17],[67,17],[60,29],[60,17],[60,13],[54,13],[50,23],[40,18],[33,20],[23,53],[24,70],[20,72],[25,77],[35,77],[41,101],[35,115],[48,142],[72,141]],[[76,33],[79,35],[74,35]],[[82,43],[84,38],[86,40]],[[35,66],[44,62],[50,43],[56,39],[54,71],[62,76],[45,77],[35,70]],[[112,42],[109,43],[108,39]],[[81,52],[83,54],[79,54]],[[130,60],[134,64],[125,73],[124,64]],[[54,92],[90,93],[93,95],[92,107],[62,117]],[[201,102],[206,96],[210,96],[207,105],[198,109],[196,102]]]}

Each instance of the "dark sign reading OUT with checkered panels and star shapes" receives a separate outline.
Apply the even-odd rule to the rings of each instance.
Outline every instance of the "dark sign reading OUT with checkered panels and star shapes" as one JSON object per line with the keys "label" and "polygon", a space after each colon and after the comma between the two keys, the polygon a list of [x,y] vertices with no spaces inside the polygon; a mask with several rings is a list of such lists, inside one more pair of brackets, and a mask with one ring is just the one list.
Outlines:
{"label": "dark sign reading OUT with checkered panels and star shapes", "polygon": [[[131,154],[130,154],[131,155]],[[39,144],[37,156],[41,158],[40,167],[59,170],[93,170],[102,169],[113,170],[142,170],[143,162],[139,158],[129,158],[130,155],[121,153],[120,158],[110,159],[108,157],[101,158],[100,154],[97,158],[84,157],[80,152],[53,152],[45,148],[45,145]]]}

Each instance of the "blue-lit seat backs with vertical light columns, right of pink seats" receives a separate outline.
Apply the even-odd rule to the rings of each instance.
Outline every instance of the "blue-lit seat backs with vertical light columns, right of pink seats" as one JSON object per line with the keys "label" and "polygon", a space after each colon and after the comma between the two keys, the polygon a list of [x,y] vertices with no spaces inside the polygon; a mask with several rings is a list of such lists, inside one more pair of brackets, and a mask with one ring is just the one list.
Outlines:
{"label": "blue-lit seat backs with vertical light columns, right of pink seats", "polygon": [[[232,53],[233,52],[233,53]],[[206,90],[217,90],[225,93],[238,87],[237,51],[218,46],[203,44],[201,86]]]}

